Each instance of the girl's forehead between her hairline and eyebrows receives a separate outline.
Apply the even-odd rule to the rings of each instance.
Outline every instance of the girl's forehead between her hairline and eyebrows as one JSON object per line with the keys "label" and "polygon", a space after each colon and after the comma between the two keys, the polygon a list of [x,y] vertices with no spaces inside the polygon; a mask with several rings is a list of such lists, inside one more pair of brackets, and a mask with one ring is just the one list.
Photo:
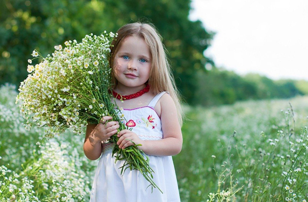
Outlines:
{"label": "girl's forehead between her hairline and eyebrows", "polygon": [[131,53],[135,55],[145,55],[151,57],[150,49],[145,40],[140,36],[127,36],[119,48],[119,53]]}

